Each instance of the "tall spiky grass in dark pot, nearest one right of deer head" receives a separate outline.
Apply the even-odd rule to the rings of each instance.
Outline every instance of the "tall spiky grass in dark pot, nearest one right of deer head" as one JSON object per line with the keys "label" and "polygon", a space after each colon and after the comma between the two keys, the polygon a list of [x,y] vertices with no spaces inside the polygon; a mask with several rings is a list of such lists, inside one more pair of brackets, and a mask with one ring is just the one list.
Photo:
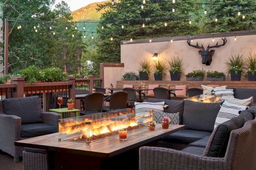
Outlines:
{"label": "tall spiky grass in dark pot, nearest one right of deer head", "polygon": [[244,66],[243,55],[231,55],[228,60],[226,60],[227,73],[231,75],[231,81],[240,81],[241,73]]}

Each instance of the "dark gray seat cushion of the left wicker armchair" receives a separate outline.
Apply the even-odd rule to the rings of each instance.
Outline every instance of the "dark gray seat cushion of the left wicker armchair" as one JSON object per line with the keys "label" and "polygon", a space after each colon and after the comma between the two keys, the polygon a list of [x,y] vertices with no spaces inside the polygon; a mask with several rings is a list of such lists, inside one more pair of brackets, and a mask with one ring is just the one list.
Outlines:
{"label": "dark gray seat cushion of the left wicker armchair", "polygon": [[45,123],[31,123],[21,125],[21,137],[40,136],[56,132],[57,130],[54,126]]}

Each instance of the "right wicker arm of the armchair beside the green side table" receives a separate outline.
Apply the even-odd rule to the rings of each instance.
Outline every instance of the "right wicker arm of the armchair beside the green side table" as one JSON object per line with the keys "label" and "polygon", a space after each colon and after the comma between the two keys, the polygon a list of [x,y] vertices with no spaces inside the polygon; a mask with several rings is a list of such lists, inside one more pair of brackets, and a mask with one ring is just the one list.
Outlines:
{"label": "right wicker arm of the armchair beside the green side table", "polygon": [[42,112],[43,122],[56,127],[58,132],[58,119],[61,119],[61,115],[55,112]]}

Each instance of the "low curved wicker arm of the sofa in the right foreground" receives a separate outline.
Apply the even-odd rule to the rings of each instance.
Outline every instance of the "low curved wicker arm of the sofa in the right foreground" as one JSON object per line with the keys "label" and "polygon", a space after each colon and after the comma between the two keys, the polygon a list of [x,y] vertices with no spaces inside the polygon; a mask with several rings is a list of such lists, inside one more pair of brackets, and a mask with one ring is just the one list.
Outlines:
{"label": "low curved wicker arm of the sofa in the right foreground", "polygon": [[231,170],[225,158],[197,156],[163,147],[140,147],[140,170]]}

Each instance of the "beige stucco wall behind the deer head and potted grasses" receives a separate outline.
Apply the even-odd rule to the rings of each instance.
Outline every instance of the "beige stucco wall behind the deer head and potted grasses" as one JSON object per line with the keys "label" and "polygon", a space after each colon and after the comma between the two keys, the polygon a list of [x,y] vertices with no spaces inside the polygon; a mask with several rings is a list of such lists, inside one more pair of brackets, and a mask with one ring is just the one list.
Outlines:
{"label": "beige stucco wall behind the deer head and potted grasses", "polygon": [[[205,48],[207,45],[215,45],[223,43],[221,38],[215,38],[215,42],[212,42],[212,38],[194,40],[192,44],[203,44]],[[225,60],[230,57],[231,54],[243,54],[244,58],[248,57],[249,51],[251,53],[256,52],[256,35],[247,35],[237,37],[237,41],[234,37],[227,37],[227,44],[225,46],[215,49],[215,54],[212,57],[212,63],[209,66],[201,63],[201,55],[198,54],[197,48],[190,47],[186,40],[173,41],[173,42],[148,42],[137,44],[125,44],[121,45],[121,62],[125,64],[124,71],[137,71],[139,68],[139,62],[142,59],[148,58],[153,64],[153,54],[158,53],[158,59],[169,60],[174,56],[179,56],[183,59],[183,70],[185,74],[195,69],[205,69],[226,71]],[[152,69],[154,71],[154,69]],[[166,71],[166,76],[163,80],[170,80],[170,74]],[[227,78],[227,80],[229,80]],[[151,80],[154,80],[154,75],[151,76]],[[181,77],[181,80],[186,80],[186,77]]]}

